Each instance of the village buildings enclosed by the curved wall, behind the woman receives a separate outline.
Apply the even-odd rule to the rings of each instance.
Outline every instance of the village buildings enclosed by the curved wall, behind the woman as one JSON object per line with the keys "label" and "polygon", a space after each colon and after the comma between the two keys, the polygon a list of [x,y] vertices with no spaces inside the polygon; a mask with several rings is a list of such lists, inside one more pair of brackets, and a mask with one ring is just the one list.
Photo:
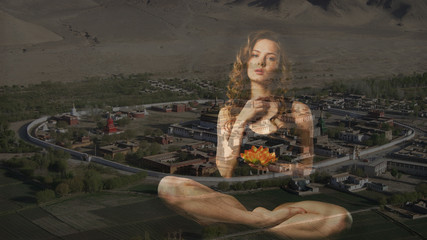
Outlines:
{"label": "village buildings enclosed by the curved wall, behind the woman", "polygon": [[[315,119],[314,167],[318,173],[328,172],[329,177],[324,182],[327,183],[326,186],[352,194],[369,190],[387,196],[399,192],[400,189],[394,189],[395,184],[389,186],[390,181],[384,181],[385,175],[393,175],[395,179],[400,179],[402,175],[419,179],[426,177],[427,138],[422,135],[405,140],[403,145],[400,144],[402,146],[400,150],[382,157],[361,156],[363,151],[381,148],[393,141],[414,136],[414,129],[387,117],[391,114],[380,110],[377,101],[368,100],[363,96],[349,98],[340,96],[342,95],[329,96],[319,104],[313,104],[312,99],[307,96],[298,98],[312,108]],[[73,107],[69,113],[52,116],[48,121],[38,125],[34,130],[34,136],[55,145],[146,170],[199,177],[219,176],[215,164],[216,121],[223,104],[224,101],[217,99],[133,108],[116,107],[111,112],[99,112],[101,119],[105,120],[98,123],[90,120],[84,111],[79,112]],[[401,105],[400,108],[409,108],[405,106]],[[360,111],[362,108],[370,110],[363,112],[360,117],[336,114],[337,111],[347,108],[357,110],[359,113],[362,112]],[[189,121],[174,121],[176,116],[185,113],[191,113],[195,118]],[[140,131],[129,129],[123,124],[117,126],[123,119],[127,122],[138,122],[152,118],[156,114],[169,119],[170,124],[167,127],[163,126],[163,129],[146,129],[143,134],[137,136],[129,132],[140,133]],[[308,150],[301,147],[292,131],[280,134],[281,138],[261,139],[247,135],[243,150],[251,146],[269,147],[270,151],[279,156],[279,161],[272,164],[274,166],[270,169],[310,157]],[[68,139],[61,136],[68,136]],[[150,151],[143,151],[142,149],[147,149],[147,146]],[[346,159],[348,164],[340,168],[329,167],[325,163],[330,159]],[[260,172],[250,169],[243,161],[239,163],[238,169],[240,170],[236,172],[240,176],[269,174],[268,170]],[[314,177],[293,177],[286,190],[297,195],[316,194],[319,193],[319,185],[315,181]],[[420,182],[421,180],[418,180],[418,183]],[[401,207],[386,205],[386,208],[390,212],[409,218],[427,216],[423,199],[414,199]]]}

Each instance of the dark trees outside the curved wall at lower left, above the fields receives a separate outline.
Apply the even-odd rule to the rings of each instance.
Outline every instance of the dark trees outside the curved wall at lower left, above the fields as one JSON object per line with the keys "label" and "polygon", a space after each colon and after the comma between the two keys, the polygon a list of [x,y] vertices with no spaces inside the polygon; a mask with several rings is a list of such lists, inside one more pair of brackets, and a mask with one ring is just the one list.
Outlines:
{"label": "dark trees outside the curved wall at lower left, above the fields", "polygon": [[145,172],[121,175],[111,168],[89,163],[81,169],[69,169],[70,154],[49,149],[31,157],[14,157],[3,162],[3,166],[20,172],[43,186],[36,193],[38,203],[50,201],[71,193],[93,193],[126,186],[146,177]]}

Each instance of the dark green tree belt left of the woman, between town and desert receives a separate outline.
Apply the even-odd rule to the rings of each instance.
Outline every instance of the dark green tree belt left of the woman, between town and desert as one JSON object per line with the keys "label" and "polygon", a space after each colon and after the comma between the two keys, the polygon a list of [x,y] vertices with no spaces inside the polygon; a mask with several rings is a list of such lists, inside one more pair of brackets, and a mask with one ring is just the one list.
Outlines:
{"label": "dark green tree belt left of the woman, between town and desert", "polygon": [[155,88],[148,82],[150,76],[150,73],[119,74],[73,83],[44,81],[29,86],[2,86],[0,119],[12,122],[69,112],[73,104],[76,108],[103,108],[215,97],[215,93],[201,88],[192,94],[160,88],[142,93],[144,89]]}

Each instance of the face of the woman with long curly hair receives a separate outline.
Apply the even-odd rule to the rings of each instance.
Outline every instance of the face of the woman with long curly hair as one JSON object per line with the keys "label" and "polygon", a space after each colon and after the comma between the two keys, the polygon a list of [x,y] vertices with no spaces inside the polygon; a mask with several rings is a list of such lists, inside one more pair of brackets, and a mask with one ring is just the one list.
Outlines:
{"label": "face of the woman with long curly hair", "polygon": [[258,40],[248,61],[249,79],[259,83],[270,83],[278,76],[279,61],[277,43],[268,39]]}

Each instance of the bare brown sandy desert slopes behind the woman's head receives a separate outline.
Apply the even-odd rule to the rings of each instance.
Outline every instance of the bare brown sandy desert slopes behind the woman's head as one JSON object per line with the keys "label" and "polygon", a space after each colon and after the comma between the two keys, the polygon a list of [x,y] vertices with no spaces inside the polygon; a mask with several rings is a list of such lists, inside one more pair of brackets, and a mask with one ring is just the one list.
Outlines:
{"label": "bare brown sandy desert slopes behind the woman's head", "polygon": [[225,78],[259,29],[280,34],[295,87],[427,71],[421,0],[1,0],[0,85]]}

